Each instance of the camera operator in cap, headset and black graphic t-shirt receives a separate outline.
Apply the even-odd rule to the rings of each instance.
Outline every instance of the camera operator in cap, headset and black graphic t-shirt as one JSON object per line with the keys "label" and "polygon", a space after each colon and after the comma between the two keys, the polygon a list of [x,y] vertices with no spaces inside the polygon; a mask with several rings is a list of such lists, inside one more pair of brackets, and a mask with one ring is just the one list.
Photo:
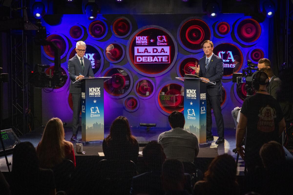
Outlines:
{"label": "camera operator in cap, headset and black graphic t-shirt", "polygon": [[[240,119],[236,130],[236,149],[245,161],[248,173],[253,173],[255,166],[262,166],[259,156],[261,146],[268,141],[278,141],[285,129],[283,112],[277,100],[267,91],[268,75],[256,71],[246,81],[252,82],[256,94],[243,102]],[[241,142],[246,132],[245,153]]]}

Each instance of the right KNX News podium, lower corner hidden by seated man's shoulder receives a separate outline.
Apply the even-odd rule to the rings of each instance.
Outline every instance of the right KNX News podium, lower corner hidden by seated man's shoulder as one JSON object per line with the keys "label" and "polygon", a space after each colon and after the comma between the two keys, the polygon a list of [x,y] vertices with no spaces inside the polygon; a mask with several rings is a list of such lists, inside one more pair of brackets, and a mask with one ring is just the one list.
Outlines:
{"label": "right KNX News podium, lower corner hidden by seated man's shoulder", "polygon": [[206,143],[207,84],[216,84],[201,78],[176,77],[184,82],[184,129],[196,134],[200,144]]}

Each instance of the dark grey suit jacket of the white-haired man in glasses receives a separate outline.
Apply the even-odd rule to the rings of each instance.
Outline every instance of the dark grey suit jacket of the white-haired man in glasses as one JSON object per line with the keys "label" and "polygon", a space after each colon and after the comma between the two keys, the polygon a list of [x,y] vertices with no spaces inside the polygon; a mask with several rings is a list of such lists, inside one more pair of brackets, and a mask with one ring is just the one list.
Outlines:
{"label": "dark grey suit jacket of the white-haired man in glasses", "polygon": [[77,81],[76,83],[72,83],[76,80],[76,77],[84,75],[84,77],[92,77],[93,69],[91,68],[91,61],[84,57],[84,70],[82,70],[81,63],[77,55],[71,58],[68,61],[68,72],[70,77],[70,87],[69,93],[71,94],[80,94],[81,93],[81,82]]}

